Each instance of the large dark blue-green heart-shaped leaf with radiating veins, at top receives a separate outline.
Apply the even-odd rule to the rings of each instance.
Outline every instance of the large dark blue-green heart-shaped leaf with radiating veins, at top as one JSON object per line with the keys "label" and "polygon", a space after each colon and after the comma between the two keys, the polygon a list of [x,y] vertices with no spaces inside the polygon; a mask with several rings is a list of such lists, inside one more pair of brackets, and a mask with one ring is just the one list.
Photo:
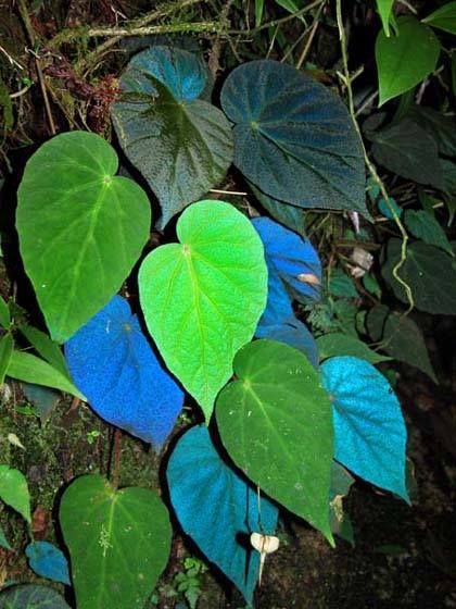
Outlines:
{"label": "large dark blue-green heart-shaped leaf with radiating veins, at top", "polygon": [[302,208],[369,215],[360,140],[342,101],[286,63],[251,61],[225,80],[235,164],[263,192]]}

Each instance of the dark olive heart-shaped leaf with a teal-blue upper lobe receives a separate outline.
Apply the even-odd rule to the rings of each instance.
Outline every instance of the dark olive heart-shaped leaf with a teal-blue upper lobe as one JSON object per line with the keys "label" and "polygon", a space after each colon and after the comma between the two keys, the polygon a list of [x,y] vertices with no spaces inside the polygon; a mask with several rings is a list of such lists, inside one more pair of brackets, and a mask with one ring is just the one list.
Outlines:
{"label": "dark olive heart-shaped leaf with a teal-blue upper lobe", "polygon": [[121,146],[162,207],[160,227],[225,176],[232,135],[218,108],[201,97],[204,62],[188,51],[152,47],[121,78],[124,98],[112,107]]}

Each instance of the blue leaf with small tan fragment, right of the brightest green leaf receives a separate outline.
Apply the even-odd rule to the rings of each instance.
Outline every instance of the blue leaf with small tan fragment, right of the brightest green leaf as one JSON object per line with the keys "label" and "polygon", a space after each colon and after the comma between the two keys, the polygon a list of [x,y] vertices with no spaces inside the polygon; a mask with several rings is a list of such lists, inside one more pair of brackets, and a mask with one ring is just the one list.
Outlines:
{"label": "blue leaf with small tan fragment, right of the brightest green leaf", "polygon": [[268,299],[259,323],[286,323],[294,316],[289,293],[303,302],[319,299],[321,264],[318,253],[308,239],[269,217],[255,217],[252,223],[262,238],[269,273]]}

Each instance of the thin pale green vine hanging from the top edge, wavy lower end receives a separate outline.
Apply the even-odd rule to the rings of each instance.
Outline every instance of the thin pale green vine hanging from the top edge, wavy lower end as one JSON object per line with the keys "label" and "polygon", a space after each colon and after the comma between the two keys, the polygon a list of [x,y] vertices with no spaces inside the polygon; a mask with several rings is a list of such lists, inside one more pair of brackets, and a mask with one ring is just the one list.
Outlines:
{"label": "thin pale green vine hanging from the top edge, wavy lower end", "polygon": [[385,200],[385,202],[387,202],[387,204],[388,204],[388,207],[391,211],[391,214],[394,219],[394,222],[396,223],[396,226],[400,229],[400,233],[401,233],[401,236],[402,236],[401,259],[398,260],[398,262],[393,268],[392,274],[393,274],[393,277],[397,281],[397,283],[400,283],[402,285],[402,287],[404,288],[405,294],[407,296],[408,309],[404,313],[404,316],[405,316],[405,315],[408,315],[408,313],[415,307],[414,296],[411,294],[410,286],[406,282],[404,282],[404,279],[398,275],[398,271],[401,270],[402,265],[404,264],[404,262],[407,259],[408,235],[407,235],[407,232],[404,228],[404,225],[401,222],[400,216],[397,215],[396,210],[391,204],[390,197],[388,196],[388,192],[387,192],[387,188],[384,187],[383,182],[381,181],[379,174],[377,173],[377,170],[376,170],[373,163],[370,161],[369,157],[367,156],[366,148],[364,146],[360,128],[359,128],[358,122],[356,120],[355,104],[354,104],[353,90],[352,90],[352,79],[351,79],[350,71],[349,71],[349,55],[347,55],[347,50],[346,50],[345,28],[344,28],[343,20],[342,20],[342,0],[335,0],[335,12],[337,12],[337,20],[338,20],[339,39],[340,39],[340,42],[341,42],[344,83],[345,83],[345,86],[346,86],[346,94],[347,94],[347,98],[349,98],[350,115],[352,116],[353,125],[354,125],[354,127],[355,127],[355,129],[356,129],[356,132],[359,136],[359,140],[360,140],[360,144],[362,144],[362,147],[363,147],[364,159],[365,159],[367,169],[369,170],[369,173],[372,176],[372,178],[375,179],[375,182],[378,184],[378,186],[380,188],[380,191],[382,194],[382,197]]}

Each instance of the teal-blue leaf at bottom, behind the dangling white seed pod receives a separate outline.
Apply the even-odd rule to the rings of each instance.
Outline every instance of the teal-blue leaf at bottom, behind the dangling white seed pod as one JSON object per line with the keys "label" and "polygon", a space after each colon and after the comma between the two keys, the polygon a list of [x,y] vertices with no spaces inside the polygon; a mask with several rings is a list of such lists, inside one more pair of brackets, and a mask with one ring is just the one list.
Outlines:
{"label": "teal-blue leaf at bottom, behind the dangling white seed pod", "polygon": [[[205,426],[179,439],[166,475],[183,531],[252,602],[259,571],[259,555],[249,549],[250,534],[259,531],[256,490],[225,464]],[[277,517],[277,508],[262,498],[264,533],[275,533]]]}

